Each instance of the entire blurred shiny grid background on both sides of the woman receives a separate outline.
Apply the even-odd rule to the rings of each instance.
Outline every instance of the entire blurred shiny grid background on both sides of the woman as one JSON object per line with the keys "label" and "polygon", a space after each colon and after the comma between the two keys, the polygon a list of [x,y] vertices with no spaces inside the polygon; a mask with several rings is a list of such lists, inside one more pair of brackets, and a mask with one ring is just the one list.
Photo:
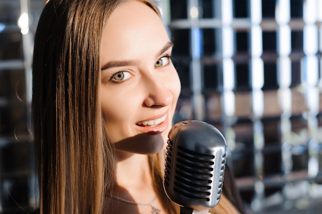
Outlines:
{"label": "entire blurred shiny grid background on both sides of the woman", "polygon": [[[45,0],[0,0],[0,213],[37,206],[33,36]],[[174,122],[216,126],[248,213],[321,213],[322,0],[159,0]]]}

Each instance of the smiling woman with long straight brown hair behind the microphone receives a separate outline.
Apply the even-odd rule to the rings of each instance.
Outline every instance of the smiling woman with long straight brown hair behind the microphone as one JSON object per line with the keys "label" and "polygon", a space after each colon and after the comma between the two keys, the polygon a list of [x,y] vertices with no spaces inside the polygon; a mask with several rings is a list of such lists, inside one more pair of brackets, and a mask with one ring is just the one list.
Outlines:
{"label": "smiling woman with long straight brown hair behind the microphone", "polygon": [[[41,214],[178,213],[162,186],[171,49],[151,1],[48,2],[33,58]],[[225,195],[212,212],[239,213]]]}

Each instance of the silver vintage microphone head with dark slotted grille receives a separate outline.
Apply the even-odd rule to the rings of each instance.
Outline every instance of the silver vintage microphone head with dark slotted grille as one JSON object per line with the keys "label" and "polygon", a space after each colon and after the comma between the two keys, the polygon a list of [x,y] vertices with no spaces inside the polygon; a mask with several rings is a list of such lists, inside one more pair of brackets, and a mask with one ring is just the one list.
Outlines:
{"label": "silver vintage microphone head with dark slotted grille", "polygon": [[218,204],[226,163],[226,141],[200,121],[175,124],[168,134],[164,189],[174,203],[194,210]]}

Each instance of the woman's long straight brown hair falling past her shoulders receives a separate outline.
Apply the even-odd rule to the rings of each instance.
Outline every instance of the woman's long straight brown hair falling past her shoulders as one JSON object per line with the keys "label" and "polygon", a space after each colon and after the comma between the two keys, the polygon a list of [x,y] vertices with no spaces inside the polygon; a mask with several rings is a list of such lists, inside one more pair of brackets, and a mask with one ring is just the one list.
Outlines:
{"label": "woman's long straight brown hair falling past her shoulders", "polygon": [[[40,17],[32,89],[40,214],[102,213],[114,160],[98,95],[101,36],[110,14],[125,1],[50,0]],[[158,13],[152,1],[140,2]],[[159,155],[149,157],[154,188],[168,213],[175,213],[160,188]]]}

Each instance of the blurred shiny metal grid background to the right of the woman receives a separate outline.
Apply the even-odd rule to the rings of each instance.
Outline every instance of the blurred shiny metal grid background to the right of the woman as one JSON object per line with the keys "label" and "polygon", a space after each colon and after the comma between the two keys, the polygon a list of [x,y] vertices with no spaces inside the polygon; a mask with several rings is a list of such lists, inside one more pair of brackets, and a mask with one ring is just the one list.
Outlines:
{"label": "blurred shiny metal grid background to the right of the woman", "polygon": [[187,0],[167,10],[178,121],[224,133],[248,212],[319,213],[322,1]]}

